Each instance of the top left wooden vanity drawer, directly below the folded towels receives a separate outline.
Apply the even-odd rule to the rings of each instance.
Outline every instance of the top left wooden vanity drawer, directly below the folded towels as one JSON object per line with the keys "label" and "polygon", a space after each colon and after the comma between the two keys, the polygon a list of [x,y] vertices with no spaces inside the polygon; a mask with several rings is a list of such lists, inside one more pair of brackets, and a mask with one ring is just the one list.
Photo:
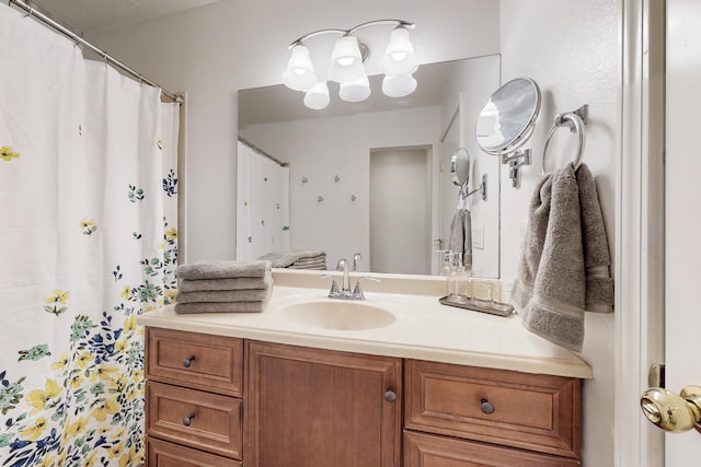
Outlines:
{"label": "top left wooden vanity drawer, directly below the folded towels", "polygon": [[154,327],[146,336],[147,378],[242,397],[242,339]]}

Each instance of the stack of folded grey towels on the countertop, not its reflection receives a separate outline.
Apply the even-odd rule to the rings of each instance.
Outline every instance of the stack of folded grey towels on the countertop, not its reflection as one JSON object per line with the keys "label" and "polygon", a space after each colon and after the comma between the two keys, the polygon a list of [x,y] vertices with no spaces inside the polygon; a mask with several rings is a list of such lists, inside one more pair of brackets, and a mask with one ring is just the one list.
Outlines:
{"label": "stack of folded grey towels on the countertop, not its reflection", "polygon": [[273,293],[271,261],[200,261],[177,268],[175,313],[262,312]]}

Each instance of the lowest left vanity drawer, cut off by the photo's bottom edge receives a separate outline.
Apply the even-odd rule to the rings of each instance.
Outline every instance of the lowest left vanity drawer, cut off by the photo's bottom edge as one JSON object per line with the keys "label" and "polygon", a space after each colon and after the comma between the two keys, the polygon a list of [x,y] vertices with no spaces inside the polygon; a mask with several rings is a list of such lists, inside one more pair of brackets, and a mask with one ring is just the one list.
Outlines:
{"label": "lowest left vanity drawer, cut off by the photo's bottom edge", "polygon": [[148,467],[243,467],[243,464],[214,454],[148,437],[146,440]]}

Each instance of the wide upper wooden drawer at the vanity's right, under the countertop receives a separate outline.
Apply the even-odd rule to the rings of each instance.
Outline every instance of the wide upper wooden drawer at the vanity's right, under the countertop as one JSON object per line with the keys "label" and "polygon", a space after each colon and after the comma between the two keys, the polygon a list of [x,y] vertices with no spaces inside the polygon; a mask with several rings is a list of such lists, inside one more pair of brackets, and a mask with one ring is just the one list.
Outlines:
{"label": "wide upper wooden drawer at the vanity's right, under the countertop", "polygon": [[577,378],[407,360],[405,428],[579,458]]}

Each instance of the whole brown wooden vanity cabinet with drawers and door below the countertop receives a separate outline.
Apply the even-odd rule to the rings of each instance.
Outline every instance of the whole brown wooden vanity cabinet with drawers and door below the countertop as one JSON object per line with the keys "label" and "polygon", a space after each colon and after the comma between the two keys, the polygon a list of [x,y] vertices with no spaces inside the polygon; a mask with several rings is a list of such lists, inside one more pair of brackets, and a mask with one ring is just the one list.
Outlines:
{"label": "whole brown wooden vanity cabinet with drawers and door below the countertop", "polygon": [[579,465],[577,378],[146,336],[147,467]]}

